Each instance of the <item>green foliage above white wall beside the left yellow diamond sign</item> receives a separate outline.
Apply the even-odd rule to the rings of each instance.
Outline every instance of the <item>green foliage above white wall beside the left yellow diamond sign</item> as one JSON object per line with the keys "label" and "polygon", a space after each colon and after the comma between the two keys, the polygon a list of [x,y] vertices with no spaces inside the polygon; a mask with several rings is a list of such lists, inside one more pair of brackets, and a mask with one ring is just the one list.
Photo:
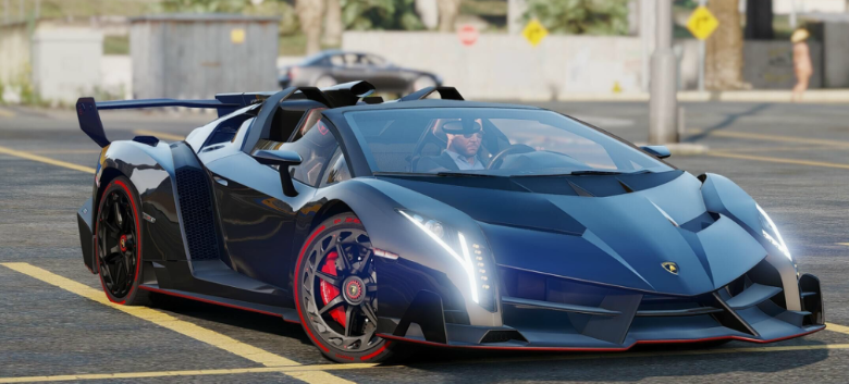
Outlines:
{"label": "green foliage above white wall beside the left yellow diamond sign", "polygon": [[628,0],[528,0],[525,18],[537,18],[552,33],[625,35]]}

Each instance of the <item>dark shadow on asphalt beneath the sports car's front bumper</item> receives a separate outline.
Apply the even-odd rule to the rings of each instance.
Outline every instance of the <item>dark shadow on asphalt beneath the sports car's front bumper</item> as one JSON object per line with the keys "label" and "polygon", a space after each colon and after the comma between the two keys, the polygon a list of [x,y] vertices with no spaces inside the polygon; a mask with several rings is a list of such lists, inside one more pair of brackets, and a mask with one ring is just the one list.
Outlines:
{"label": "dark shadow on asphalt beneath the sports car's front bumper", "polygon": [[[640,381],[664,377],[778,373],[817,363],[828,358],[828,349],[796,351],[735,351],[737,348],[804,345],[824,346],[819,340],[760,345],[730,342],[715,344],[669,344],[637,346],[624,352],[537,352],[482,351],[421,347],[406,367],[451,375],[475,367],[485,367],[487,382],[501,381]],[[749,377],[749,379],[741,379]],[[770,380],[737,376],[738,381]],[[773,377],[771,381],[774,381]]]}

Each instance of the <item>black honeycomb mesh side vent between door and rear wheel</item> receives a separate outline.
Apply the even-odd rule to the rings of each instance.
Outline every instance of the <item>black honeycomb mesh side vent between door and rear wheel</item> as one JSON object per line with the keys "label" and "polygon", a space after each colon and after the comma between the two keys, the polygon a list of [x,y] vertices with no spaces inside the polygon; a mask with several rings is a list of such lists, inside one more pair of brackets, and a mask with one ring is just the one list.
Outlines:
{"label": "black honeycomb mesh side vent between door and rear wheel", "polygon": [[218,259],[218,234],[209,177],[200,169],[184,166],[176,171],[176,183],[188,255],[192,260]]}

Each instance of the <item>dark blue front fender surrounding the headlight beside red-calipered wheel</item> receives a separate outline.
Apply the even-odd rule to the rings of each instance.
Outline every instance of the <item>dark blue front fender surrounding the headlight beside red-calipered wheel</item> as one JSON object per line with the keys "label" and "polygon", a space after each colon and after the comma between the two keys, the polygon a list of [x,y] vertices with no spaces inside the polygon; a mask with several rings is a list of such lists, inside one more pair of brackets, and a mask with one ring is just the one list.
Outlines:
{"label": "dark blue front fender surrounding the headlight beside red-calipered wheel", "polygon": [[[381,276],[378,280],[378,292],[381,293],[378,311],[381,318],[402,318],[416,295],[420,290],[429,290],[442,298],[447,322],[484,326],[503,324],[499,305],[495,305],[494,311],[476,305],[468,297],[469,280],[463,268],[396,210],[409,209],[451,223],[464,233],[470,244],[485,245],[482,231],[467,214],[419,193],[373,177],[358,177],[321,188],[313,201],[321,207],[315,215],[302,219],[305,224],[311,225],[298,227],[311,228],[328,216],[323,212],[334,209],[334,205],[344,205],[360,219],[373,247],[399,255],[398,260],[376,259]],[[296,247],[303,244],[309,232],[306,230],[298,233]],[[491,256],[487,257],[494,267]],[[402,275],[408,277],[405,281],[392,281]],[[384,284],[386,287],[381,289],[380,286]],[[491,281],[491,286],[497,287],[497,282]],[[497,289],[489,294],[496,298]]]}

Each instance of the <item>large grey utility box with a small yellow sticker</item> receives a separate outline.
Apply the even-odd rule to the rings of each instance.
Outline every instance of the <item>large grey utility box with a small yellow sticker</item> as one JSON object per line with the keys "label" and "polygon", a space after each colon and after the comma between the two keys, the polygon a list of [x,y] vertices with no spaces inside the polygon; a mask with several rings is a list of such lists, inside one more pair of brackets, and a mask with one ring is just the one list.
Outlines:
{"label": "large grey utility box with a small yellow sticker", "polygon": [[279,87],[276,17],[167,14],[130,23],[136,99],[205,99]]}

